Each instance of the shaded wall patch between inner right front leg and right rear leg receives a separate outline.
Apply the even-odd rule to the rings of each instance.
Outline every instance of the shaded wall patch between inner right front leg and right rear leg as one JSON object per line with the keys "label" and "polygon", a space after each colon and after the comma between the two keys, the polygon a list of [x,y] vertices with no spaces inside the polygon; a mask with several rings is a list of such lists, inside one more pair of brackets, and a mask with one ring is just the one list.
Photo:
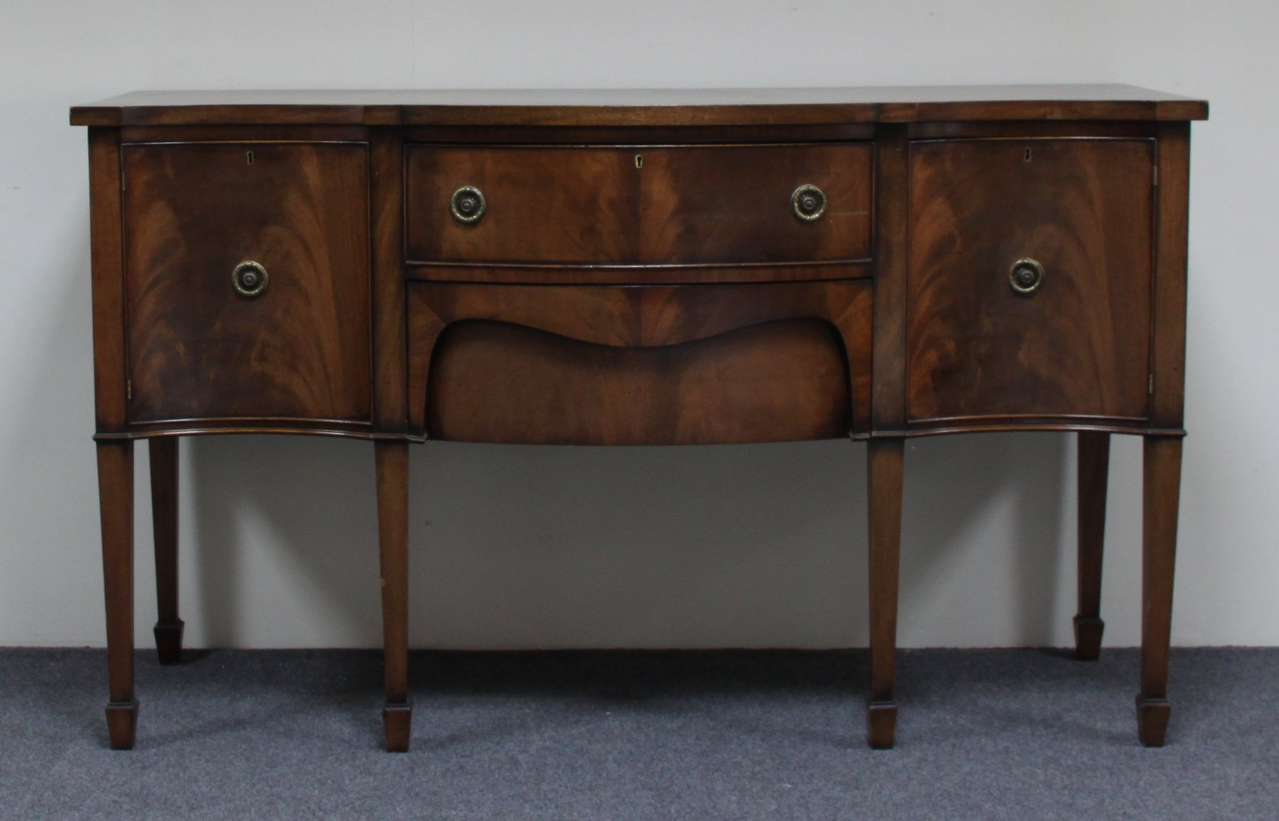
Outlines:
{"label": "shaded wall patch between inner right front leg and right rear leg", "polygon": [[1074,613],[1073,593],[1058,601],[1076,579],[1065,487],[1073,439],[980,434],[907,445],[900,645],[1062,643],[1071,628],[1058,605]]}

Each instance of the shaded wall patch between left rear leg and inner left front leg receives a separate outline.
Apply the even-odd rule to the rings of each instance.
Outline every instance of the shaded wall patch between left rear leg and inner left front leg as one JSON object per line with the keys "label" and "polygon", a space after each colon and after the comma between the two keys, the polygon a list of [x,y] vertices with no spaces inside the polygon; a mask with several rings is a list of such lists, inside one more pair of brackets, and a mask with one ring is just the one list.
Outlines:
{"label": "shaded wall patch between left rear leg and inner left front leg", "polygon": [[194,587],[183,604],[188,645],[381,643],[371,444],[189,436],[182,449],[179,483],[189,477],[191,487],[182,512],[192,515],[179,533],[182,559],[192,561],[179,575]]}

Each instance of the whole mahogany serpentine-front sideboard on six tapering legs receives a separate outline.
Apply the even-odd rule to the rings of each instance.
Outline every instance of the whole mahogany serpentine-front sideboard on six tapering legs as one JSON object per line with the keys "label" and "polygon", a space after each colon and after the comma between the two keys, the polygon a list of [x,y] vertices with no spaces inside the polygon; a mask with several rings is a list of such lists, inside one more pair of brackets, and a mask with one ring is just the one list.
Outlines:
{"label": "whole mahogany serpentine-front sideboard on six tapering legs", "polygon": [[[111,747],[134,742],[133,442],[161,662],[180,436],[373,442],[386,747],[409,743],[407,448],[868,442],[890,747],[903,441],[1078,432],[1096,659],[1111,434],[1143,437],[1138,735],[1164,743],[1189,121],[1131,86],[138,92],[88,127]],[[851,500],[852,504],[852,500]]]}

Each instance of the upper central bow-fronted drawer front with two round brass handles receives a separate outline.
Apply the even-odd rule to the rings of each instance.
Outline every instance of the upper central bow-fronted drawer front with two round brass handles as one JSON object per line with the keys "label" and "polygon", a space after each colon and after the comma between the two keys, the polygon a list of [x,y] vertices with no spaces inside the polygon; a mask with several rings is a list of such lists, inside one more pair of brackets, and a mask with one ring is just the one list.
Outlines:
{"label": "upper central bow-fronted drawer front with two round brass handles", "polygon": [[[407,150],[411,262],[732,265],[870,256],[866,143]],[[806,215],[793,196],[819,189]],[[455,192],[483,197],[475,221]],[[801,210],[803,205],[798,206]]]}

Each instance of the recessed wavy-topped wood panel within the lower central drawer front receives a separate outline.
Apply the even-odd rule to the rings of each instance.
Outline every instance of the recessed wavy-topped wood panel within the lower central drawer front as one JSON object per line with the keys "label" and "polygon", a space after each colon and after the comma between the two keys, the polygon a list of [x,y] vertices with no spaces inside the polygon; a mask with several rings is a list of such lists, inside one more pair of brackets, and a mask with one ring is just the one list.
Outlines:
{"label": "recessed wavy-topped wood panel within the lower central drawer front", "polygon": [[755,325],[660,348],[582,343],[472,320],[440,339],[434,439],[586,445],[848,436],[848,367],[819,320]]}

